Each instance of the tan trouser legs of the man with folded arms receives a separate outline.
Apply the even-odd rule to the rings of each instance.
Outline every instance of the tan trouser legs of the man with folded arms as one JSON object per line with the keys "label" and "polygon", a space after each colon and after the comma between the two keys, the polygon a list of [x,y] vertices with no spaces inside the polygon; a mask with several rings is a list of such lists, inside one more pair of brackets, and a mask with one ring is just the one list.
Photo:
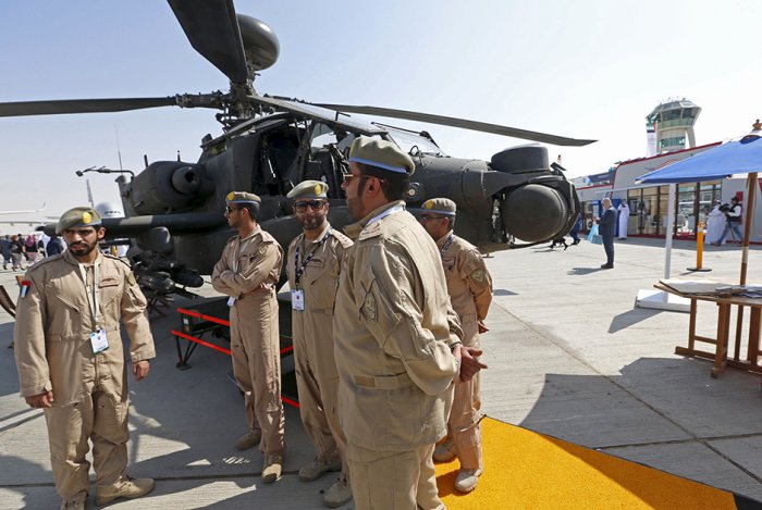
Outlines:
{"label": "tan trouser legs of the man with folded arms", "polygon": [[281,402],[281,352],[274,290],[236,300],[230,312],[233,375],[244,391],[249,431],[261,430],[259,449],[283,451],[285,418]]}

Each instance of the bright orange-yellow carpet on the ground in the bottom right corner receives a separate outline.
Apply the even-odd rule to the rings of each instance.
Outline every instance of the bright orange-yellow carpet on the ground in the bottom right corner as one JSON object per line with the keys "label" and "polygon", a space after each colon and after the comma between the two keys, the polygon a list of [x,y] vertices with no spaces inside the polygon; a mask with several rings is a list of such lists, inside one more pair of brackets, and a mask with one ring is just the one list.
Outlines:
{"label": "bright orange-yellow carpet on the ground in the bottom right corner", "polygon": [[476,490],[454,489],[458,462],[437,465],[450,510],[735,510],[732,493],[486,418],[484,473]]}

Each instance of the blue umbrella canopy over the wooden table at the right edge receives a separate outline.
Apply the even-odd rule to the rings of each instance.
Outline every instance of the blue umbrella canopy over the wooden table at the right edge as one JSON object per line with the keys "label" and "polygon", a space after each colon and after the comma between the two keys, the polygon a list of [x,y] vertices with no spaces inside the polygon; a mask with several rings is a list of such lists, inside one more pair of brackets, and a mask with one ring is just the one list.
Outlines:
{"label": "blue umbrella canopy over the wooden table at the right edge", "polygon": [[696,183],[762,172],[762,138],[749,135],[699,152],[637,178],[650,184]]}

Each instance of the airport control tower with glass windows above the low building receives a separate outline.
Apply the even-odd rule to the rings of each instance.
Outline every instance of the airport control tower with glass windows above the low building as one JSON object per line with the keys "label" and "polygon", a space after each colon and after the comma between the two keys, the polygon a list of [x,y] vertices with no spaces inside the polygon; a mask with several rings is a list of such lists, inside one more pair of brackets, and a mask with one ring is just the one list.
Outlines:
{"label": "airport control tower with glass windows above the low building", "polygon": [[699,113],[701,108],[686,98],[668,99],[654,108],[646,117],[649,156],[696,147],[693,124]]}

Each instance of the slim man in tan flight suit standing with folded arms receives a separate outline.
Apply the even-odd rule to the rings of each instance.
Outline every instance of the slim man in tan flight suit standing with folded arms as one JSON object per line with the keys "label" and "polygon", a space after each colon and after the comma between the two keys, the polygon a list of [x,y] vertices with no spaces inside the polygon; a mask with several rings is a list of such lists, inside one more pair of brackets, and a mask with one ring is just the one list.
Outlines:
{"label": "slim man in tan flight suit standing with folded arms", "polygon": [[259,445],[261,478],[272,483],[283,470],[283,403],[276,285],[283,249],[257,223],[261,200],[249,192],[226,197],[228,224],[238,231],[212,272],[212,287],[230,296],[233,375],[244,391],[248,432],[235,443],[245,450]]}

